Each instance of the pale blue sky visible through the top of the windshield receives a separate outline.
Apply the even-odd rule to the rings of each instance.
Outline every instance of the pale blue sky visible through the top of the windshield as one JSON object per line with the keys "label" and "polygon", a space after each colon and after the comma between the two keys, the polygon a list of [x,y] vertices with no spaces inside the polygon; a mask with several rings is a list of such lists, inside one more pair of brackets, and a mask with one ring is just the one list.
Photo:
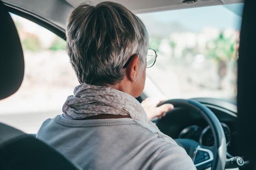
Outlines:
{"label": "pale blue sky visible through the top of the windshield", "polygon": [[[151,20],[150,22],[154,24],[180,23],[191,31],[198,30],[203,26],[218,27],[218,29],[233,28],[240,30],[241,17],[229,9],[235,9],[236,11],[239,11],[238,7],[232,4],[227,7],[199,7],[185,10],[180,9],[173,11],[139,14],[138,16],[144,22]],[[241,10],[239,12],[241,12]],[[153,20],[157,21],[154,22]],[[152,24],[152,26],[154,24]]]}

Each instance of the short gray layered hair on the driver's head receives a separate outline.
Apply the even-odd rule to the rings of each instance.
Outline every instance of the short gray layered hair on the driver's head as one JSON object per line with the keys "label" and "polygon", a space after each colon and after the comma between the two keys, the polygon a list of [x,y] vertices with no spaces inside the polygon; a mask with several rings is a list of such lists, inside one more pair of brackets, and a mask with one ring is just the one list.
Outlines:
{"label": "short gray layered hair on the driver's head", "polygon": [[80,83],[115,85],[124,78],[124,64],[139,55],[146,64],[148,32],[131,11],[115,2],[80,4],[67,20],[67,53]]}

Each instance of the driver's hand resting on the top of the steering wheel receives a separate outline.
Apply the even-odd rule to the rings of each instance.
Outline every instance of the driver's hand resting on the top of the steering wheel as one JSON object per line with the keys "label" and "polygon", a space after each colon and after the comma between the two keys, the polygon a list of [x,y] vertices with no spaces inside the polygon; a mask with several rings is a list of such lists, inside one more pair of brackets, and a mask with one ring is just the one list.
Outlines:
{"label": "driver's hand resting on the top of the steering wheel", "polygon": [[173,109],[172,104],[163,104],[157,107],[157,104],[165,100],[166,99],[148,97],[141,102],[141,105],[144,108],[146,114],[148,115],[149,120],[152,120],[154,117],[158,117],[158,119],[161,119],[163,116],[165,116],[166,112]]}

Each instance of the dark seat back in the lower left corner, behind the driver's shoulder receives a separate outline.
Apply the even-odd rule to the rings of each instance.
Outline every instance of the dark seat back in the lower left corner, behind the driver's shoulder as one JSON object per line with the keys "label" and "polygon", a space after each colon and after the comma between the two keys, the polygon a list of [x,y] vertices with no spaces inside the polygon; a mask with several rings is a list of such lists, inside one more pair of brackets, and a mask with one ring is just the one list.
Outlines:
{"label": "dark seat back in the lower left corner, behind the driver's shoulder", "polygon": [[82,170],[55,148],[0,123],[0,170]]}

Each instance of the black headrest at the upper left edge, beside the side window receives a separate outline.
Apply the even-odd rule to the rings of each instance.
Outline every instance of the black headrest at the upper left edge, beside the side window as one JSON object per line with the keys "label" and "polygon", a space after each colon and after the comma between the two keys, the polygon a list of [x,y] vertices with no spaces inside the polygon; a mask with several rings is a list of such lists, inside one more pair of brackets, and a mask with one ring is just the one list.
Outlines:
{"label": "black headrest at the upper left edge, beside the side window", "polygon": [[24,76],[24,57],[16,27],[0,1],[0,99],[20,87]]}

